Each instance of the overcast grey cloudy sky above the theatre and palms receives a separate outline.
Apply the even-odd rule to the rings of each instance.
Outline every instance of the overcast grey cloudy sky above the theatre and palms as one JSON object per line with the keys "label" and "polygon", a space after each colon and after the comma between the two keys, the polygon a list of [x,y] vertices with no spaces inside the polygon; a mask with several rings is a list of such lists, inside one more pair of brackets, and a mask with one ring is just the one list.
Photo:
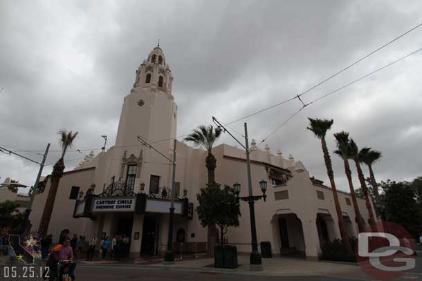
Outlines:
{"label": "overcast grey cloudy sky above the theatre and palms", "polygon": [[[135,69],[160,39],[174,76],[178,135],[211,117],[230,122],[302,93],[422,22],[421,1],[0,1],[0,146],[59,157],[57,130],[89,153],[116,138]],[[422,27],[302,96],[312,101],[421,48]],[[327,182],[306,117],[334,119],[383,153],[378,180],[422,175],[422,52],[302,110],[265,142]],[[260,142],[301,107],[297,99],[246,119]],[[232,124],[243,130],[243,122]],[[221,142],[235,144],[224,136]],[[264,147],[264,144],[261,146]],[[20,152],[19,152],[20,151]],[[31,151],[31,152],[25,152]],[[66,169],[84,155],[69,152]],[[342,162],[333,157],[340,189]],[[0,177],[35,182],[37,165],[0,153]],[[364,171],[367,171],[366,168]],[[356,183],[357,186],[357,183]]]}

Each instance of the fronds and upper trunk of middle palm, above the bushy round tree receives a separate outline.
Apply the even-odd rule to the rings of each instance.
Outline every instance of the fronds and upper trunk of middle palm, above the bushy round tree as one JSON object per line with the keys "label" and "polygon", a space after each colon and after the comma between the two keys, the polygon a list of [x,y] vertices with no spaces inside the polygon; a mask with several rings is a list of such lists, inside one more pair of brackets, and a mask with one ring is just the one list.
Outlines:
{"label": "fronds and upper trunk of middle palm, above the bushy round tree", "polygon": [[215,168],[217,167],[217,159],[212,155],[212,146],[221,135],[221,128],[212,128],[212,125],[205,127],[204,125],[194,129],[194,133],[185,137],[185,141],[193,142],[194,146],[203,146],[208,151],[205,158],[205,166],[208,170],[208,184],[215,182]]}

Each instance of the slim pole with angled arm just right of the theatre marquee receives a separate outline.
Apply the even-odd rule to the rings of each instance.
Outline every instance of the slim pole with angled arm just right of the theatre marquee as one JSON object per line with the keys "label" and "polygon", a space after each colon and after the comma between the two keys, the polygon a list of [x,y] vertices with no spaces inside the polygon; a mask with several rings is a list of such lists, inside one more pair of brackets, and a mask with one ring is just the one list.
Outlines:
{"label": "slim pole with angled arm just right of the theatre marquee", "polygon": [[164,264],[174,264],[174,253],[173,253],[173,224],[174,224],[174,193],[176,189],[176,144],[177,139],[174,139],[173,144],[173,159],[169,159],[169,157],[165,156],[163,153],[160,153],[154,146],[149,144],[145,139],[138,136],[138,142],[147,146],[147,148],[154,150],[156,153],[160,154],[161,156],[165,157],[165,159],[169,160],[169,162],[173,165],[173,175],[172,175],[172,195],[170,198],[170,213],[169,213],[169,233],[167,236],[167,251],[164,255]]}

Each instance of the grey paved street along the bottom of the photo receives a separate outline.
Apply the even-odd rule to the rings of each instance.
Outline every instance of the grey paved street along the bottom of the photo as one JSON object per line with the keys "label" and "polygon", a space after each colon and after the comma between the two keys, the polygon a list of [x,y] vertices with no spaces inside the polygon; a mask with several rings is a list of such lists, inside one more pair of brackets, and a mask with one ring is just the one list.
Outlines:
{"label": "grey paved street along the bottom of the photo", "polygon": [[[244,262],[244,257],[241,257]],[[173,266],[163,266],[159,264],[117,264],[117,263],[94,263],[77,264],[77,280],[262,280],[262,281],[340,281],[340,280],[371,280],[360,267],[349,264],[335,264],[330,262],[312,262],[299,259],[275,258],[266,259],[264,272],[250,272],[247,264],[239,269],[215,269],[213,267],[203,267],[209,259],[183,260],[176,262]],[[38,271],[36,271],[38,272]],[[22,271],[18,270],[18,274]],[[22,276],[22,275],[21,275]],[[4,270],[1,267],[0,280],[16,281],[41,281],[42,278],[4,278]],[[397,280],[422,280],[422,256],[416,257],[416,268],[401,276]]]}

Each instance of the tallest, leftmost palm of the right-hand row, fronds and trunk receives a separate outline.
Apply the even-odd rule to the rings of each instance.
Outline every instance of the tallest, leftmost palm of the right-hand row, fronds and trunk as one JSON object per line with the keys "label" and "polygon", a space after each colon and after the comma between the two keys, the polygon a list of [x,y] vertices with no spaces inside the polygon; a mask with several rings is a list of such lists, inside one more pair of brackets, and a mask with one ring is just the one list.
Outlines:
{"label": "tallest, leftmost palm of the right-hand row, fronds and trunk", "polygon": [[333,125],[333,119],[312,119],[308,118],[310,126],[307,127],[308,130],[311,130],[315,137],[321,139],[322,145],[322,153],[324,154],[324,162],[327,168],[327,175],[330,179],[331,184],[331,191],[333,192],[334,204],[336,206],[336,213],[338,217],[338,227],[340,229],[340,235],[342,237],[343,244],[345,245],[345,250],[348,254],[352,254],[351,245],[349,241],[349,236],[347,235],[345,220],[343,220],[342,210],[340,208],[340,202],[338,202],[338,195],[337,195],[337,188],[336,182],[334,182],[334,173],[333,173],[333,165],[331,164],[331,157],[328,152],[327,142],[325,141],[325,135],[327,135],[327,130],[331,128]]}

